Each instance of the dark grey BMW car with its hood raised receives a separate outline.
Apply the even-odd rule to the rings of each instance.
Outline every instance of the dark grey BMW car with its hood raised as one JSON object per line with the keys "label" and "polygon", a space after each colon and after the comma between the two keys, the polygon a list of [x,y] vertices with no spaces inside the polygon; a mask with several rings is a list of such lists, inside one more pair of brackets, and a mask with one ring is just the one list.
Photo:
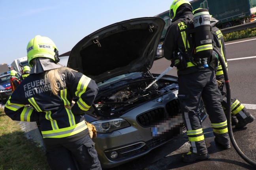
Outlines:
{"label": "dark grey BMW car with its hood raised", "polygon": [[[149,71],[164,25],[160,17],[117,22],[87,35],[70,52],[67,66],[99,88],[83,116],[96,127],[102,168],[128,163],[186,132],[178,78]],[[201,121],[206,116],[202,104]]]}

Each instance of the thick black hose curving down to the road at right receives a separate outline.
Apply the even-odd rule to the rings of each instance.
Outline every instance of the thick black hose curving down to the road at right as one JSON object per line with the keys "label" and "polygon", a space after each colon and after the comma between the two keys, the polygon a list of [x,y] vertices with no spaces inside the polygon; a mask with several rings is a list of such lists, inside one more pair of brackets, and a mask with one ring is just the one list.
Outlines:
{"label": "thick black hose curving down to the road at right", "polygon": [[231,105],[231,92],[230,92],[230,81],[228,79],[228,71],[227,71],[227,68],[226,68],[226,63],[224,61],[224,59],[222,58],[220,52],[218,52],[218,50],[216,48],[213,47],[213,50],[215,52],[217,52],[218,54],[218,59],[220,61],[220,64],[221,64],[221,67],[222,67],[222,70],[223,70],[223,73],[224,73],[224,79],[225,79],[225,84],[226,84],[226,90],[227,90],[227,106],[228,108],[227,109],[227,113],[228,113],[228,134],[230,136],[230,140],[231,140],[231,143],[233,145],[233,147],[235,148],[235,151],[239,154],[239,156],[241,158],[243,158],[243,160],[245,160],[248,164],[252,165],[253,167],[256,167],[256,162],[252,161],[251,159],[249,159],[242,151],[241,149],[237,146],[237,143],[235,142],[235,138],[233,136],[233,131],[232,131],[232,125],[231,125],[231,108],[230,108],[230,105]]}

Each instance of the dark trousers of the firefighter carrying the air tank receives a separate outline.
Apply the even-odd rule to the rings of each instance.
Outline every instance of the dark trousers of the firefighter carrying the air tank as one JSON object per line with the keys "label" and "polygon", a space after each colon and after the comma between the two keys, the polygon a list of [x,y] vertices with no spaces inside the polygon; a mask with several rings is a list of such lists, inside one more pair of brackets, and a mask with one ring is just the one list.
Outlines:
{"label": "dark trousers of the firefighter carrying the air tank", "polygon": [[178,98],[192,153],[207,153],[199,113],[201,99],[209,115],[215,138],[221,144],[230,143],[227,119],[220,103],[221,94],[213,70],[179,75]]}

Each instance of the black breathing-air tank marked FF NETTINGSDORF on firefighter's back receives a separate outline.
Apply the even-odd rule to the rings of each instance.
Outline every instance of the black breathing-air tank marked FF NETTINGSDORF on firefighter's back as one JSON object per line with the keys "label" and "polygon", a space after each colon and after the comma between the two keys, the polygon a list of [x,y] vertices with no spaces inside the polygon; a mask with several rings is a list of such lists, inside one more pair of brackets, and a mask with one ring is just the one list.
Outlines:
{"label": "black breathing-air tank marked FF NETTINGSDORF on firefighter's back", "polygon": [[190,62],[198,68],[209,67],[213,54],[213,41],[211,34],[211,16],[208,9],[202,8],[194,12],[193,19],[181,19],[187,24],[186,51]]}

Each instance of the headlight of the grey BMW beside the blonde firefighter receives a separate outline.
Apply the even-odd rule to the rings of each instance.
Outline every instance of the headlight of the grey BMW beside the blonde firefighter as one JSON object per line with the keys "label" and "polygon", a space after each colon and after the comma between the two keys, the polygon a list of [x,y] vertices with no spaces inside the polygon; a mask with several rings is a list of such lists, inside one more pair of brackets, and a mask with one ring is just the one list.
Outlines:
{"label": "headlight of the grey BMW beside the blonde firefighter", "polygon": [[97,133],[111,133],[112,131],[130,126],[128,121],[121,118],[111,120],[98,120],[91,122],[91,124],[95,126]]}

